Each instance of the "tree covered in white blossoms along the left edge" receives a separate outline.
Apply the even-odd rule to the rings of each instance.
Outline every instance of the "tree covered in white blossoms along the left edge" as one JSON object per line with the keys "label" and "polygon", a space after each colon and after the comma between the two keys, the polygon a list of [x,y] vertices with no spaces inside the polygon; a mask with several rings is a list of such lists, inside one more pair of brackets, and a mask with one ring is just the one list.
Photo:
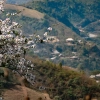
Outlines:
{"label": "tree covered in white blossoms along the left edge", "polygon": [[[4,12],[4,1],[0,1],[0,13]],[[28,66],[34,66],[25,59],[26,51],[35,48],[37,43],[47,42],[47,34],[43,37],[32,35],[25,37],[21,30],[21,25],[11,21],[10,17],[18,13],[7,13],[5,20],[0,19],[0,66],[10,69],[20,69],[20,73],[28,72]],[[49,27],[48,31],[52,31]]]}

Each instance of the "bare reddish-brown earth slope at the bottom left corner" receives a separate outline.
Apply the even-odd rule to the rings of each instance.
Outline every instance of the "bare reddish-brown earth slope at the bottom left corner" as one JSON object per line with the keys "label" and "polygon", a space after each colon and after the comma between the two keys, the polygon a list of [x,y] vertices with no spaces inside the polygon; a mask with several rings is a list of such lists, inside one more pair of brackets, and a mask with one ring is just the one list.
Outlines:
{"label": "bare reddish-brown earth slope at the bottom left corner", "polygon": [[[25,95],[25,92],[27,92],[28,96]],[[20,85],[6,90],[3,97],[4,100],[40,100],[39,98],[42,98],[42,100],[51,100],[46,93],[36,92],[35,90]]]}

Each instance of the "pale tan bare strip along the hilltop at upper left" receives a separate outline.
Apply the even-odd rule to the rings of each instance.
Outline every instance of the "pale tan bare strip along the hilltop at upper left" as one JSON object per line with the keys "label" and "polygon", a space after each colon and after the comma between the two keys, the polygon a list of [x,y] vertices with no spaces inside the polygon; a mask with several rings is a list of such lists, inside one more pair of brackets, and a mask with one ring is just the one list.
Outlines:
{"label": "pale tan bare strip along the hilltop at upper left", "polygon": [[44,17],[43,13],[40,13],[36,10],[25,8],[22,6],[18,6],[18,5],[5,4],[5,9],[21,11],[21,15],[26,16],[26,17],[37,18],[37,19],[41,19]]}

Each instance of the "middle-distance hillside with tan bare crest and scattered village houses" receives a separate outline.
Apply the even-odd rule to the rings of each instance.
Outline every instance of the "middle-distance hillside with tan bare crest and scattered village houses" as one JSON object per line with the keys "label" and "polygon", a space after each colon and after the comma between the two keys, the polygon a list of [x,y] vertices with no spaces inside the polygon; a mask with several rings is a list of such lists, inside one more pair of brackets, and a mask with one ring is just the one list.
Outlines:
{"label": "middle-distance hillside with tan bare crest and scattered village houses", "polygon": [[[11,4],[6,4],[6,9],[10,9],[7,10],[9,12],[16,12],[15,10],[17,10],[17,12],[22,11],[20,14],[18,14],[18,16],[11,17],[11,19],[19,22],[23,26],[23,33],[26,35],[32,35],[35,33],[42,36],[47,31],[49,26],[53,28],[48,35],[49,38],[52,37],[54,41],[50,40],[49,43],[44,43],[42,45],[38,44],[36,48],[30,50],[29,54],[31,56],[35,54],[43,59],[45,58],[55,63],[59,62],[62,63],[62,65],[71,66],[80,70],[100,69],[100,55],[96,54],[94,51],[90,51],[91,47],[95,45],[91,42],[91,39],[85,40],[81,38],[63,23],[46,14],[42,14],[32,9]],[[33,13],[28,14],[30,10]],[[34,14],[34,12],[36,14]],[[40,16],[38,17],[37,15]],[[4,19],[4,16],[5,14],[0,17]],[[68,38],[72,38],[73,41],[67,43],[66,39]],[[94,39],[94,41],[97,41],[97,39]],[[98,52],[99,51],[100,50],[98,48]],[[93,56],[95,56],[95,59],[92,58]]]}

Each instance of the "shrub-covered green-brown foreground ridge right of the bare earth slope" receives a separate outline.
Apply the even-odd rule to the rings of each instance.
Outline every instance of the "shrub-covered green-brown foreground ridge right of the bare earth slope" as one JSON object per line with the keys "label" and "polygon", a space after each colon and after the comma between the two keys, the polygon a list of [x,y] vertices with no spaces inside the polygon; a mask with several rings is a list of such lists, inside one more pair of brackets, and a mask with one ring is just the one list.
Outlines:
{"label": "shrub-covered green-brown foreground ridge right of the bare earth slope", "polygon": [[[35,70],[41,74],[38,77],[46,80],[37,82],[46,86],[46,91],[51,98],[55,99],[59,95],[61,100],[83,100],[83,98],[92,98],[84,100],[99,100],[99,86],[94,80],[87,77],[84,72],[79,73],[76,69],[70,67],[61,67],[48,61],[41,61],[38,57],[33,59],[27,56],[35,65]],[[85,97],[86,96],[86,97]]]}

